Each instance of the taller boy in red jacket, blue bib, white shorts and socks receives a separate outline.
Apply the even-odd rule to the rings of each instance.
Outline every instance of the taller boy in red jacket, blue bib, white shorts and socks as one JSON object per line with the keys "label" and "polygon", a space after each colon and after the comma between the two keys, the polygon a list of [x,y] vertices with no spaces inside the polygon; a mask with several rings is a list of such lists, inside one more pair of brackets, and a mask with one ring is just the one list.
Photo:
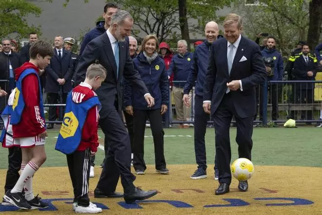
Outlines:
{"label": "taller boy in red jacket, blue bib, white shorts and socks", "polygon": [[[45,138],[47,136],[39,69],[50,63],[54,55],[50,43],[37,41],[30,47],[30,61],[15,70],[16,88],[14,90],[13,112],[10,118],[15,144],[22,152],[21,174],[11,190],[3,198],[21,209],[47,208],[32,192],[32,178],[46,160]],[[22,190],[25,195],[22,195]]]}

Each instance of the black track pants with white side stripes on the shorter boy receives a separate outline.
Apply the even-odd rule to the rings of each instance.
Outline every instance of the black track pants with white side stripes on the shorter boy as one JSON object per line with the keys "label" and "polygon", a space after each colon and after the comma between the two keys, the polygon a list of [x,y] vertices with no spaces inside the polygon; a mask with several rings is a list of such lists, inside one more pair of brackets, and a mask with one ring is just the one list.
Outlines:
{"label": "black track pants with white side stripes on the shorter boy", "polygon": [[87,207],[89,205],[88,185],[91,151],[89,148],[85,151],[74,151],[72,154],[67,154],[66,157],[74,189],[74,202]]}

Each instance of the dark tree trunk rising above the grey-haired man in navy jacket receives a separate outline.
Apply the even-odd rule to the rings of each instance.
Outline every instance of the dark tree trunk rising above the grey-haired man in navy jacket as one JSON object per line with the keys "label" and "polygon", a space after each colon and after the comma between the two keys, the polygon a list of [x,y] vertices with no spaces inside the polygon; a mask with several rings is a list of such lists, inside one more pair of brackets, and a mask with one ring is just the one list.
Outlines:
{"label": "dark tree trunk rising above the grey-haired man in navy jacket", "polygon": [[179,22],[181,29],[181,38],[188,43],[188,51],[190,51],[190,38],[189,38],[189,26],[187,19],[187,0],[179,1]]}

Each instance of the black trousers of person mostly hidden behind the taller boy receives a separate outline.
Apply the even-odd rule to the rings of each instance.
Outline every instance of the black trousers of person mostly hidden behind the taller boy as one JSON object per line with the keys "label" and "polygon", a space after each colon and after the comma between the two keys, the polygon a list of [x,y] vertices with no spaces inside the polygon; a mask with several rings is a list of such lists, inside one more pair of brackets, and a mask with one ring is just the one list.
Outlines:
{"label": "black trousers of person mostly hidden behind the taller boy", "polygon": [[16,185],[20,177],[19,171],[22,162],[20,147],[10,147],[8,151],[8,170],[5,178],[4,193]]}

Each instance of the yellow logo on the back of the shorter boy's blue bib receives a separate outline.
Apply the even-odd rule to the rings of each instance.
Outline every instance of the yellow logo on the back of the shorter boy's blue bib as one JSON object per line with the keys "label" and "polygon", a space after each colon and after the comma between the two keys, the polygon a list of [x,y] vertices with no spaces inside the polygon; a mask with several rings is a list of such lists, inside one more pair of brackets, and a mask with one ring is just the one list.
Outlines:
{"label": "yellow logo on the back of the shorter boy's blue bib", "polygon": [[78,124],[79,122],[72,111],[65,113],[64,119],[62,120],[62,124],[60,127],[60,131],[59,131],[62,138],[65,139],[67,137],[74,136],[76,129],[78,127]]}

